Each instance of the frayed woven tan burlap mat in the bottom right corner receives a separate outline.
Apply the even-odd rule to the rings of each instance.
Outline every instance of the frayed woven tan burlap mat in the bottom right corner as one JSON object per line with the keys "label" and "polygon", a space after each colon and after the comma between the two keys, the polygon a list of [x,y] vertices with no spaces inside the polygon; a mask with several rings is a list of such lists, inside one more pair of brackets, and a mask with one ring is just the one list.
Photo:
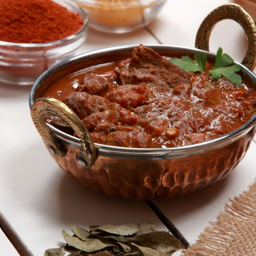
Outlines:
{"label": "frayed woven tan burlap mat in the bottom right corner", "polygon": [[256,255],[256,181],[240,196],[229,199],[216,222],[210,222],[185,256]]}

